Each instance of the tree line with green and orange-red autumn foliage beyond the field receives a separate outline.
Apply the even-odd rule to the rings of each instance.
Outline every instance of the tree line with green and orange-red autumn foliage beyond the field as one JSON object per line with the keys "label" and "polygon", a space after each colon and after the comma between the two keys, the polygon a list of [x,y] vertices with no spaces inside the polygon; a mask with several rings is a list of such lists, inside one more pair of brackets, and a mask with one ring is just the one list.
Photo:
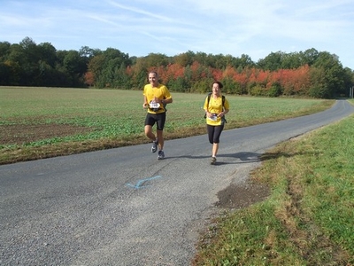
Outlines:
{"label": "tree line with green and orange-red autumn foliage beyond the field", "polygon": [[334,98],[349,96],[354,72],[335,54],[314,48],[271,52],[258,62],[250,56],[213,55],[187,51],[173,57],[150,53],[130,57],[114,48],[105,51],[82,46],[80,51],[57,51],[51,43],[0,43],[0,85],[142,90],[147,73],[158,72],[170,90],[210,90],[213,80],[229,94]]}

